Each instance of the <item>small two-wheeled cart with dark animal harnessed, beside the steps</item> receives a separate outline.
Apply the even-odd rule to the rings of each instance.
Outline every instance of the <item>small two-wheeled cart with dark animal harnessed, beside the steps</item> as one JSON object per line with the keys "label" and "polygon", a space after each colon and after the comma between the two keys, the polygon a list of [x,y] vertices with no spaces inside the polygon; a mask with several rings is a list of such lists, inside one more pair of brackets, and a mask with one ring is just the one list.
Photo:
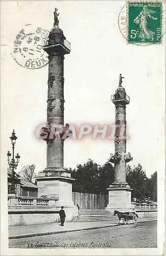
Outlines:
{"label": "small two-wheeled cart with dark animal harnessed, beside the steps", "polygon": [[114,210],[114,216],[118,216],[118,224],[120,225],[121,219],[123,220],[123,223],[126,225],[128,224],[128,221],[132,220],[133,224],[137,223],[138,215],[135,212],[121,212]]}

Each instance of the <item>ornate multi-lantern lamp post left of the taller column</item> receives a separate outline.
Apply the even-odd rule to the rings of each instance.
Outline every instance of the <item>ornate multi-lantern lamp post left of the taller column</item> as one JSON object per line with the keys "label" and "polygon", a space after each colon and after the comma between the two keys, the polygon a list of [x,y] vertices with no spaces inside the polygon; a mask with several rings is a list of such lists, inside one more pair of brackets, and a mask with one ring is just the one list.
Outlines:
{"label": "ornate multi-lantern lamp post left of the taller column", "polygon": [[10,160],[10,158],[11,158],[10,152],[8,151],[8,153],[7,153],[7,161],[8,161],[9,167],[12,169],[12,185],[11,185],[11,191],[10,192],[11,192],[11,194],[15,194],[14,169],[17,169],[17,165],[19,163],[20,156],[17,153],[17,155],[15,156],[15,159],[14,159],[14,146],[15,146],[15,142],[16,142],[16,139],[17,139],[17,137],[15,136],[14,130],[12,132],[12,136],[9,137],[9,138],[11,139],[12,150],[13,150],[11,160]]}

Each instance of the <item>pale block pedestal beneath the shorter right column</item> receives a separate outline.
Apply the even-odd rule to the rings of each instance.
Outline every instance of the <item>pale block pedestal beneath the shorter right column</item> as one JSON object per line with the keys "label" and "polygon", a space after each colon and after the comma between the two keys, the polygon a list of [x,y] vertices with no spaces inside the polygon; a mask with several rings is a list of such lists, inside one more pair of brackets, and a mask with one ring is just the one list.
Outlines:
{"label": "pale block pedestal beneath the shorter right column", "polygon": [[131,188],[127,187],[110,187],[109,190],[109,203],[106,207],[106,210],[113,212],[114,210],[118,211],[131,211]]}

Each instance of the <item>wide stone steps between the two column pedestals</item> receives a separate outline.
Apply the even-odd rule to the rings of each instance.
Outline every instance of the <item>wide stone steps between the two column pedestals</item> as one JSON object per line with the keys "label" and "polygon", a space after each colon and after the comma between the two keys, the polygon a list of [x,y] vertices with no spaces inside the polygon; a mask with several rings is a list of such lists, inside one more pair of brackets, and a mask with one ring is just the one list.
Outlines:
{"label": "wide stone steps between the two column pedestals", "polygon": [[118,221],[117,216],[113,216],[113,212],[105,209],[81,209],[80,215],[76,222],[92,222],[92,221]]}

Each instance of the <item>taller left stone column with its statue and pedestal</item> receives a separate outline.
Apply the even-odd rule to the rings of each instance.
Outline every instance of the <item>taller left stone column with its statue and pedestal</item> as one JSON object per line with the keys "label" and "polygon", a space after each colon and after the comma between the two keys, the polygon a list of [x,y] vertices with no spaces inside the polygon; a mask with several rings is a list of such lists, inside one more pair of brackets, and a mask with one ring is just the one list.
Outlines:
{"label": "taller left stone column with its statue and pedestal", "polygon": [[[59,28],[57,9],[54,12],[54,28],[43,50],[49,54],[48,108],[47,124],[41,136],[47,143],[46,168],[39,172],[36,180],[40,187],[38,196],[59,199],[58,205],[68,207],[67,218],[70,220],[77,212],[72,200],[71,174],[63,168],[64,139],[70,131],[69,124],[64,126],[64,55],[70,53],[70,43]],[[68,134],[67,136],[65,134]],[[65,137],[64,137],[65,135]]]}

